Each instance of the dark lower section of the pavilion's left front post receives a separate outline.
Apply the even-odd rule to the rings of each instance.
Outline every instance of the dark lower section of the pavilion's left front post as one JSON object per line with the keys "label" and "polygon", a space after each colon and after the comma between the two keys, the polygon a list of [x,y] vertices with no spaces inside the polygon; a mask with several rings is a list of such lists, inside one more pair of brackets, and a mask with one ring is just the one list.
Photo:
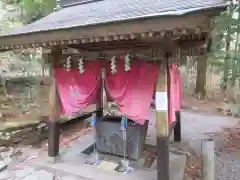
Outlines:
{"label": "dark lower section of the pavilion's left front post", "polygon": [[48,124],[48,156],[59,155],[60,122],[49,121]]}

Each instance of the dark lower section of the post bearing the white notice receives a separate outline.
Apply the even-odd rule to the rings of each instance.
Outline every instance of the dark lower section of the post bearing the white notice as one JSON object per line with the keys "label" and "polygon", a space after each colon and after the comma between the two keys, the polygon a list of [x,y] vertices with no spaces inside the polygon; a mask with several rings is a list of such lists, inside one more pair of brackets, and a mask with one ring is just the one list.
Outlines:
{"label": "dark lower section of the post bearing the white notice", "polygon": [[157,137],[157,180],[169,180],[169,141],[168,137]]}

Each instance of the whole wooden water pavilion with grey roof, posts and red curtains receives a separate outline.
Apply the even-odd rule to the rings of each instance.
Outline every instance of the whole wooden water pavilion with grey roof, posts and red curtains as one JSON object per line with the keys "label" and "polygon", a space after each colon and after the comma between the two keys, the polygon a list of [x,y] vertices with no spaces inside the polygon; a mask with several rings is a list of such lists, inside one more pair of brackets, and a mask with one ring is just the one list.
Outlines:
{"label": "whole wooden water pavilion with grey roof, posts and red curtains", "polygon": [[96,103],[97,124],[104,87],[126,130],[124,119],[144,126],[154,97],[157,178],[168,180],[172,127],[181,140],[178,62],[205,56],[211,20],[225,8],[223,0],[60,0],[47,17],[1,35],[1,51],[42,47],[52,65],[49,156],[59,153],[57,104],[73,113]]}

